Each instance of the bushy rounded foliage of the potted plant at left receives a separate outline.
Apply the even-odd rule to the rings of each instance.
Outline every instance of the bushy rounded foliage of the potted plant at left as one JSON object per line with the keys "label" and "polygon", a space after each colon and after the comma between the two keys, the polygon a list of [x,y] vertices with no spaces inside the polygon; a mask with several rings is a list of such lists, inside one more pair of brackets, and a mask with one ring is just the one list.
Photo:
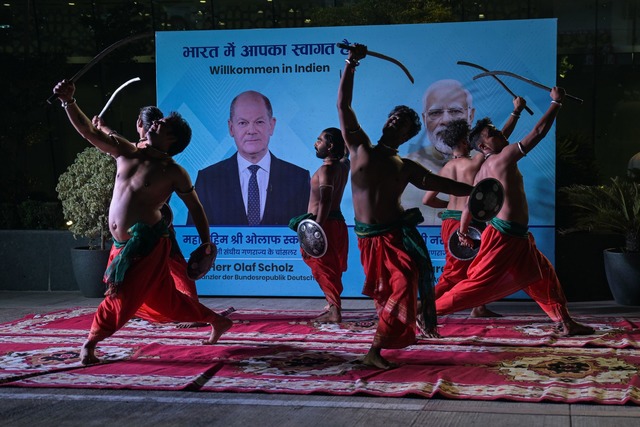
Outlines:
{"label": "bushy rounded foliage of the potted plant at left", "polygon": [[95,147],[78,154],[60,175],[56,191],[62,212],[74,237],[89,239],[91,248],[105,249],[110,238],[109,205],[113,193],[116,166],[113,158]]}

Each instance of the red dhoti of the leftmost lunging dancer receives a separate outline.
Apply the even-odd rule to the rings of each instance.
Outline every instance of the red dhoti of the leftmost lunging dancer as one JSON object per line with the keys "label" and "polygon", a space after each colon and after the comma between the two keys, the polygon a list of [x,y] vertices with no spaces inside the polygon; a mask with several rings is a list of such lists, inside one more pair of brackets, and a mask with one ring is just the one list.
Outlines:
{"label": "red dhoti of the leftmost lunging dancer", "polygon": [[[215,323],[220,317],[176,289],[169,268],[171,241],[160,238],[149,254],[136,258],[126,270],[117,292],[98,306],[89,332],[89,340],[101,341],[113,335],[144,304],[168,321]],[[123,248],[111,248],[109,264]]]}

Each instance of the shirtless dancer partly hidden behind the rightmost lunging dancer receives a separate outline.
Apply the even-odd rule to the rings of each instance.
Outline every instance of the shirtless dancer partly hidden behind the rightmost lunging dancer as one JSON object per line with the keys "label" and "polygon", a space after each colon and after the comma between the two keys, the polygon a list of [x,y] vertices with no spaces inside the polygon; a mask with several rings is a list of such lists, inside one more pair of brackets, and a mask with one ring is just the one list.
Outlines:
{"label": "shirtless dancer partly hidden behind the rightmost lunging dancer", "polygon": [[[507,122],[502,128],[502,133],[508,138],[516,127],[522,110],[526,106],[524,98],[513,99],[513,112],[509,115]],[[447,123],[446,128],[439,137],[442,142],[451,147],[453,158],[449,160],[440,170],[439,175],[456,181],[473,184],[476,173],[484,161],[482,153],[476,153],[471,157],[471,146],[469,144],[469,123],[466,119],[458,119]],[[451,235],[460,227],[460,217],[462,210],[467,205],[468,197],[449,196],[449,200],[438,198],[437,191],[427,191],[422,202],[433,208],[446,208],[442,212],[442,227],[440,236],[444,243],[445,265],[438,283],[435,294],[438,299],[443,293],[451,289],[456,283],[467,278],[467,269],[472,260],[460,260],[451,254],[449,249],[449,239]],[[471,310],[471,317],[499,317],[487,308],[486,305],[474,307]]]}

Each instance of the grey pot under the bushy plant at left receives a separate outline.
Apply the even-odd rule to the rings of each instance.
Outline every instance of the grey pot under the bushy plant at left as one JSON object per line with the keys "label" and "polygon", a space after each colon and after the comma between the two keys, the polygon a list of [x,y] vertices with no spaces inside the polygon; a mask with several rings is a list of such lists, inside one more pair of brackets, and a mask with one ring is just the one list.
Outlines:
{"label": "grey pot under the bushy plant at left", "polygon": [[73,273],[80,293],[87,298],[102,298],[106,290],[102,281],[109,261],[109,249],[71,248]]}

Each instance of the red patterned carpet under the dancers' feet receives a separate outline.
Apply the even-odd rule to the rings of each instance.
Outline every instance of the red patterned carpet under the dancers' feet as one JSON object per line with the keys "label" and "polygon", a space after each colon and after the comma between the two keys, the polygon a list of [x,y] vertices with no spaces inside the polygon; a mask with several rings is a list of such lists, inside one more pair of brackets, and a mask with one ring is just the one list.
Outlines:
{"label": "red patterned carpet under the dancers' feet", "polygon": [[596,328],[559,337],[546,316],[439,319],[442,339],[384,350],[399,367],[361,363],[376,326],[371,310],[320,324],[318,312],[239,310],[213,346],[209,328],[134,319],[83,367],[79,348],[94,309],[0,324],[0,386],[324,393],[449,399],[640,403],[640,318],[579,317]]}

